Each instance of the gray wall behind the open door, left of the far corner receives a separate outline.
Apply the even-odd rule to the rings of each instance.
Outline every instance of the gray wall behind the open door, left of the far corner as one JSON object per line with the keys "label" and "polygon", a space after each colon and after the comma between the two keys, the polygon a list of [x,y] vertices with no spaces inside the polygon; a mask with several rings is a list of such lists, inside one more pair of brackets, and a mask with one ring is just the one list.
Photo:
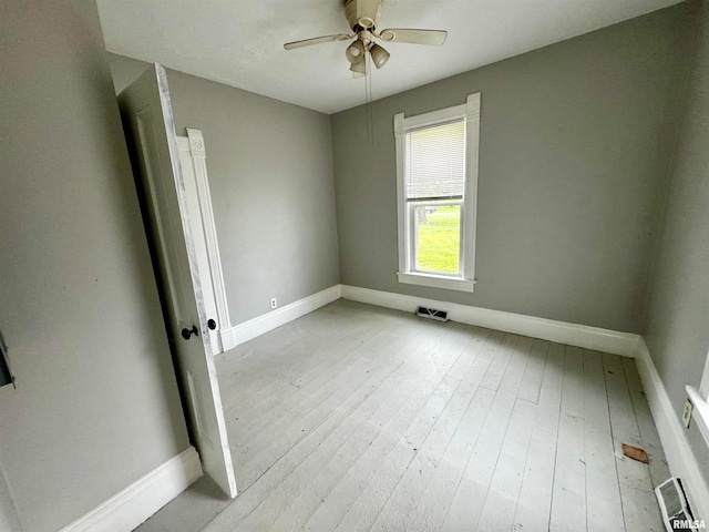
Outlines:
{"label": "gray wall behind the open door, left of the far corner", "polygon": [[[110,54],[116,91],[146,63]],[[326,114],[168,70],[177,133],[203,131],[232,321],[339,283]]]}

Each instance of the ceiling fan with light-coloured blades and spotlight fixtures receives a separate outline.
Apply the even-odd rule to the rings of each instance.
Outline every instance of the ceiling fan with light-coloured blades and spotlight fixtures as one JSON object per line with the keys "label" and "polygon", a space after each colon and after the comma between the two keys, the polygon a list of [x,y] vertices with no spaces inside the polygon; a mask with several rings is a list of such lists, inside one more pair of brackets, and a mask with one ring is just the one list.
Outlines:
{"label": "ceiling fan with light-coloured blades and spotlight fixtures", "polygon": [[448,31],[443,30],[412,30],[412,29],[386,29],[377,31],[381,8],[384,0],[345,0],[345,17],[349,22],[352,33],[338,33],[335,35],[316,37],[304,41],[288,42],[284,44],[286,50],[310,47],[322,42],[347,41],[354,39],[347,47],[346,55],[350,62],[350,70],[354,78],[368,74],[369,55],[374,66],[381,69],[389,61],[389,52],[374,42],[379,39],[383,42],[407,42],[411,44],[430,44],[440,47],[445,42]]}

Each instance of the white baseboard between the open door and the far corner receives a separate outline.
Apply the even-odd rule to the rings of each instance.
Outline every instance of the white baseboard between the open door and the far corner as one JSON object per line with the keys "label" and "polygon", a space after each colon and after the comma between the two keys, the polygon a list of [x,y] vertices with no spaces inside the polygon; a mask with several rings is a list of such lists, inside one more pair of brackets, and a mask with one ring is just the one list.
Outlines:
{"label": "white baseboard between the open door and the far corner", "polygon": [[222,344],[224,350],[226,351],[269,330],[274,330],[339,298],[340,285],[335,285],[277,310],[238,324],[230,329],[223,330]]}

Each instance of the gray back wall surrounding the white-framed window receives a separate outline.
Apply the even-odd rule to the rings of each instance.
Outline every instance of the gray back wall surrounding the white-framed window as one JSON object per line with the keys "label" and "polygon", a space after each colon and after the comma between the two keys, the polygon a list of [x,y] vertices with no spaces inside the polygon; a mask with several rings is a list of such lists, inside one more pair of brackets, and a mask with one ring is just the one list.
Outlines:
{"label": "gray back wall surrounding the white-framed window", "polygon": [[[341,282],[640,332],[687,23],[680,4],[376,101],[373,144],[363,106],[332,115]],[[399,284],[393,115],[477,91],[475,293]]]}

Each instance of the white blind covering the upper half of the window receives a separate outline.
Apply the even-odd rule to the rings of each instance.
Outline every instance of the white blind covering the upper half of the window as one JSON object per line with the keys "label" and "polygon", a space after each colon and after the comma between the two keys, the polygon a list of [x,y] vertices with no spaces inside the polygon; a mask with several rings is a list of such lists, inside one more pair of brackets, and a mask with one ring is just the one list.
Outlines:
{"label": "white blind covering the upper half of the window", "polygon": [[465,121],[407,132],[407,201],[460,200],[465,188]]}

